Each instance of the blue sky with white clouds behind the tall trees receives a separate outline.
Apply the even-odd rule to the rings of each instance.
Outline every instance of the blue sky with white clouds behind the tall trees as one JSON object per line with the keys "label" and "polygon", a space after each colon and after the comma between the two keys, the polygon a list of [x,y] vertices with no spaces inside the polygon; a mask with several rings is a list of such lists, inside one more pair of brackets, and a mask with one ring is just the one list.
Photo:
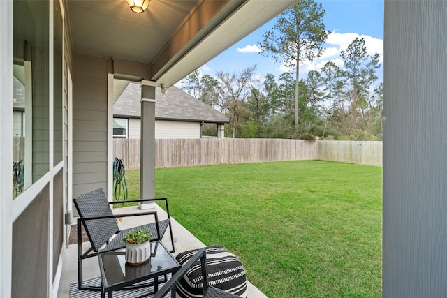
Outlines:
{"label": "blue sky with white clouds behind the tall trees", "polygon": [[[279,1],[279,0],[276,0]],[[305,77],[309,70],[319,70],[328,61],[334,61],[342,67],[339,52],[356,37],[365,38],[367,51],[371,54],[378,52],[380,62],[383,63],[383,0],[323,0],[319,1],[325,9],[324,23],[329,35],[327,50],[317,61],[300,66],[300,77]],[[240,72],[244,68],[258,66],[258,75],[272,73],[279,77],[287,69],[280,63],[275,64],[271,57],[264,57],[258,53],[256,44],[263,39],[263,33],[271,29],[276,19],[240,40],[218,57],[208,61],[200,68],[203,74],[213,77],[218,70],[229,73]],[[377,75],[382,80],[382,68]]]}

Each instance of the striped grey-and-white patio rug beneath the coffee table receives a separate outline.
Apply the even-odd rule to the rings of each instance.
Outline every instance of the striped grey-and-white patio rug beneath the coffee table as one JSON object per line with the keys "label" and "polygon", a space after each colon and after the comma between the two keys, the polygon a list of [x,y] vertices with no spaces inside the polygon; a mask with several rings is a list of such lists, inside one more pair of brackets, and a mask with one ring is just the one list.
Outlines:
{"label": "striped grey-and-white patio rug beneath the coffee table", "polygon": [[[95,285],[99,286],[101,285],[101,277],[95,277],[91,279],[86,279],[84,281],[85,285]],[[161,283],[159,285],[159,288],[163,287],[164,283]],[[147,288],[140,288],[135,290],[124,290],[124,291],[114,291],[113,297],[114,298],[137,298],[137,297],[152,297],[152,291],[154,290],[154,287],[147,287]],[[165,297],[170,298],[170,293],[166,295]],[[78,282],[72,283],[70,285],[70,298],[101,298],[101,292],[100,291],[89,291],[89,290],[79,290],[78,289]]]}

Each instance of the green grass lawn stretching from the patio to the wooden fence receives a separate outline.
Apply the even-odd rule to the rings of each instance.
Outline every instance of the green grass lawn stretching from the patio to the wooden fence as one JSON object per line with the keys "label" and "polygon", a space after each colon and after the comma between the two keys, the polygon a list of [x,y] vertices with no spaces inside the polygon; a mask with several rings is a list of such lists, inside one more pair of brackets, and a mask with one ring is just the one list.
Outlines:
{"label": "green grass lawn stretching from the patio to the wooden fence", "polygon": [[[287,161],[156,169],[156,197],[237,255],[268,297],[381,297],[381,167]],[[129,200],[139,171],[127,171]]]}

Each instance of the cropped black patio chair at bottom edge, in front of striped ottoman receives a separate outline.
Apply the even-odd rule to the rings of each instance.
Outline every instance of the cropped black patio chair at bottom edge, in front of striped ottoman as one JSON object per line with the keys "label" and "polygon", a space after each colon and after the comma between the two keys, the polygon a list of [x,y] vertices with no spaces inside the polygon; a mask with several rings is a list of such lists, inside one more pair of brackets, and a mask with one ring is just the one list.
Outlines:
{"label": "cropped black patio chair at bottom edge, in front of striped ottoman", "polygon": [[185,265],[182,266],[179,271],[177,271],[170,280],[163,285],[163,287],[154,294],[153,298],[161,298],[165,297],[170,293],[177,283],[183,278],[185,274],[192,267],[198,266],[198,260],[200,259],[200,267],[202,270],[202,278],[203,278],[203,298],[240,298],[237,295],[233,295],[231,293],[225,292],[219,288],[214,288],[213,286],[208,284],[208,274],[207,274],[207,254],[205,248],[200,248],[195,255],[186,262]]}

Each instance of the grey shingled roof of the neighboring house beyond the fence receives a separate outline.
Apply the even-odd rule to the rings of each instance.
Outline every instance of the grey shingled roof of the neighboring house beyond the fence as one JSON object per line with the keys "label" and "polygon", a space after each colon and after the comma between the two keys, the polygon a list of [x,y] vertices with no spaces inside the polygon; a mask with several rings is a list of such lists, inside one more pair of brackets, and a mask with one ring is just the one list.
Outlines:
{"label": "grey shingled roof of the neighboring house beyond the fence", "polygon": [[[115,117],[141,117],[141,89],[139,84],[129,83],[115,104]],[[175,86],[170,87],[166,94],[160,88],[155,89],[155,119],[181,120],[207,123],[229,123],[228,118],[203,103],[201,100],[187,94]]]}

